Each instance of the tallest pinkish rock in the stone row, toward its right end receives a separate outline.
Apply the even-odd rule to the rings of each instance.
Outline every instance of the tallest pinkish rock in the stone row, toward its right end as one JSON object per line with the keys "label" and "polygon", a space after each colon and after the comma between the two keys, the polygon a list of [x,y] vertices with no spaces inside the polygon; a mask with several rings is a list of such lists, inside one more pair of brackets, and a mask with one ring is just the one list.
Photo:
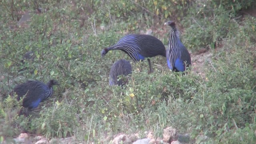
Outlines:
{"label": "tallest pinkish rock in the stone row, toward its right end", "polygon": [[163,133],[164,142],[170,143],[172,141],[176,141],[177,139],[178,139],[177,130],[175,128],[168,127],[164,129],[164,133]]}

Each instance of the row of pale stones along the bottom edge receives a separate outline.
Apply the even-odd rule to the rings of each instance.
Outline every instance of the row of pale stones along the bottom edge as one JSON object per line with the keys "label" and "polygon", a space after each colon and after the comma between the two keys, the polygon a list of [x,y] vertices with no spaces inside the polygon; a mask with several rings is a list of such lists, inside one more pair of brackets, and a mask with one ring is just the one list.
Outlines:
{"label": "row of pale stones along the bottom edge", "polygon": [[[140,138],[139,134],[118,134],[110,142],[110,144],[187,144],[190,142],[190,136],[188,134],[180,135],[177,130],[172,127],[168,127],[163,130],[163,138],[154,137],[153,132],[145,132],[147,138]],[[3,144],[74,144],[74,138],[53,138],[47,140],[42,136],[31,136],[26,133],[20,134],[17,138],[13,140],[6,140]],[[90,143],[90,142],[89,142]],[[83,144],[83,143],[80,143]],[[92,142],[93,144],[93,142]]]}

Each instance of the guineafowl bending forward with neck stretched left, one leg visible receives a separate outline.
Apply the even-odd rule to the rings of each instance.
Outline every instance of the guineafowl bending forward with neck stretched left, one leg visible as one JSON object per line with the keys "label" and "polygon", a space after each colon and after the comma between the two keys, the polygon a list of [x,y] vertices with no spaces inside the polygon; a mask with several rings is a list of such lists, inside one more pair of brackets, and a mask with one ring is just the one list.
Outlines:
{"label": "guineafowl bending forward with neck stretched left, one leg visible", "polygon": [[[164,44],[158,40],[158,38],[147,34],[126,35],[114,46],[103,49],[101,57],[104,57],[110,50],[122,50],[128,54],[134,62],[158,55],[166,57]],[[150,72],[152,72],[150,59],[148,59],[148,64]]]}

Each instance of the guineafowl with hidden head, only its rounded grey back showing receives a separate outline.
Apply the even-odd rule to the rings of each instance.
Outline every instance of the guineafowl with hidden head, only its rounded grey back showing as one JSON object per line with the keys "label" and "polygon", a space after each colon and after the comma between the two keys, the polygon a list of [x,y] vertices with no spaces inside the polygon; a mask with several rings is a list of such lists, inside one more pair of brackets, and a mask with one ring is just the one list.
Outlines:
{"label": "guineafowl with hidden head, only its rounded grey back showing", "polygon": [[127,76],[128,74],[132,73],[132,66],[128,60],[118,60],[116,61],[110,69],[109,74],[109,85],[114,86],[123,86],[126,82],[123,80],[118,80],[118,76],[124,75]]}

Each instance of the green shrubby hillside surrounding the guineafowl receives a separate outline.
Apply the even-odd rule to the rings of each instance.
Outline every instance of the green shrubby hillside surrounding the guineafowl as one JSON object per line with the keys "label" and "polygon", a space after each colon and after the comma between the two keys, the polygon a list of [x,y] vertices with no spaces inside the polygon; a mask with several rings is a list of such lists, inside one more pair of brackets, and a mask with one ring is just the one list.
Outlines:
{"label": "green shrubby hillside surrounding the guineafowl", "polygon": [[[180,134],[189,133],[191,142],[254,143],[256,19],[246,14],[247,8],[253,12],[253,4],[253,0],[1,1],[0,140],[27,132],[47,138],[73,136],[73,143],[107,143],[118,133],[139,133],[143,138],[144,131],[153,131],[162,137],[163,129],[172,126]],[[31,18],[22,22],[28,11]],[[191,52],[192,72],[175,74],[168,70],[166,58],[157,56],[151,58],[153,73],[148,74],[147,60],[133,62],[124,89],[110,87],[112,64],[121,58],[132,60],[120,50],[102,59],[101,50],[126,34],[150,30],[167,47],[168,20],[176,21]],[[35,58],[22,63],[28,51]],[[60,86],[25,118],[17,116],[20,106],[14,107],[18,102],[6,94],[28,79],[56,79]],[[208,138],[198,139],[199,135]]]}

